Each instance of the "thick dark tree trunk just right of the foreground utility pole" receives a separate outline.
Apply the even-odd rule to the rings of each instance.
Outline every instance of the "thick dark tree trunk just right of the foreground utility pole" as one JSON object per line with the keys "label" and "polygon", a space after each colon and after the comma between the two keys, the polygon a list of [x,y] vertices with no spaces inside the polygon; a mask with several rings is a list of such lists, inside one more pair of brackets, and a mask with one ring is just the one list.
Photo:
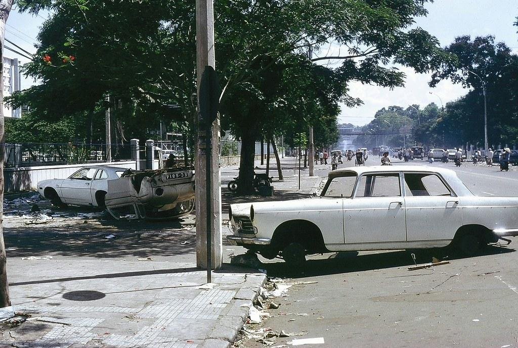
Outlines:
{"label": "thick dark tree trunk just right of the foreground utility pole", "polygon": [[239,160],[240,194],[254,194],[255,133],[253,128],[243,130],[241,137],[241,157]]}

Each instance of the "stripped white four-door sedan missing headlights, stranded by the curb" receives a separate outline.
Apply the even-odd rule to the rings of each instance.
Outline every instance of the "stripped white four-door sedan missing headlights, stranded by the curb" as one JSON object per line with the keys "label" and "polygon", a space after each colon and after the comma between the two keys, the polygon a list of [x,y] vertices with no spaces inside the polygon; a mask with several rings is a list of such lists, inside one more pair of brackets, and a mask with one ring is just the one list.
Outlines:
{"label": "stripped white four-door sedan missing headlights, stranded by the curb", "polygon": [[233,204],[229,219],[229,243],[293,265],[335,251],[452,245],[471,255],[518,235],[518,198],[481,199],[448,169],[355,167],[330,172],[320,197]]}

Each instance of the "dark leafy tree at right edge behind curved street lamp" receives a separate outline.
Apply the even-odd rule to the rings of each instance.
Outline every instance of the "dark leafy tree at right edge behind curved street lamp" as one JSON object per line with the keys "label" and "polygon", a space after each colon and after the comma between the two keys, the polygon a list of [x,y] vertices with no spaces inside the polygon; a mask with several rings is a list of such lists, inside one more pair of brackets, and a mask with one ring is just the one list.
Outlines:
{"label": "dark leafy tree at right edge behind curved street lamp", "polygon": [[[431,86],[450,79],[473,88],[447,105],[442,128],[450,139],[484,143],[484,96],[487,98],[487,131],[490,144],[513,143],[518,139],[518,55],[493,36],[457,37],[446,50],[456,56],[435,71]],[[478,76],[477,76],[478,75]],[[480,77],[480,79],[479,79]],[[449,129],[448,127],[451,127]]]}

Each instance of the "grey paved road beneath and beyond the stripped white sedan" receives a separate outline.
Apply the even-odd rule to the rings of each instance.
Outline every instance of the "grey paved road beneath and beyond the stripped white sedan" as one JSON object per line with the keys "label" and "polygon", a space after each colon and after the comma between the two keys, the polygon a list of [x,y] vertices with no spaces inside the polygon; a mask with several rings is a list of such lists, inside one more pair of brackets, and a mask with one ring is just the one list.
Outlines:
{"label": "grey paved road beneath and beyond the stripped white sedan", "polygon": [[[433,166],[455,170],[475,194],[518,195],[516,168],[502,173],[471,163]],[[262,325],[323,337],[325,344],[315,347],[517,347],[518,238],[513,239],[510,247],[490,247],[477,257],[446,256],[451,264],[430,270],[407,270],[411,252],[418,263],[443,254],[325,254],[310,257],[303,272],[282,261],[268,263],[270,276],[318,283],[294,286]],[[292,339],[278,338],[276,344]],[[262,344],[249,340],[244,346]]]}

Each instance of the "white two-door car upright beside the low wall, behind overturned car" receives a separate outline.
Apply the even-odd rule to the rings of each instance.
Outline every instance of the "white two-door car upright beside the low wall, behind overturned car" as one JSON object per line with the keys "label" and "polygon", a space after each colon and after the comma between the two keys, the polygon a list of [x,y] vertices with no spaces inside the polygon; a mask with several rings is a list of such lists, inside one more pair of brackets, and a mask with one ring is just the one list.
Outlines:
{"label": "white two-door car upright beside the low wall, behind overturned car", "polygon": [[38,192],[54,205],[89,205],[104,209],[108,180],[120,178],[126,170],[118,167],[83,167],[66,179],[39,181]]}

